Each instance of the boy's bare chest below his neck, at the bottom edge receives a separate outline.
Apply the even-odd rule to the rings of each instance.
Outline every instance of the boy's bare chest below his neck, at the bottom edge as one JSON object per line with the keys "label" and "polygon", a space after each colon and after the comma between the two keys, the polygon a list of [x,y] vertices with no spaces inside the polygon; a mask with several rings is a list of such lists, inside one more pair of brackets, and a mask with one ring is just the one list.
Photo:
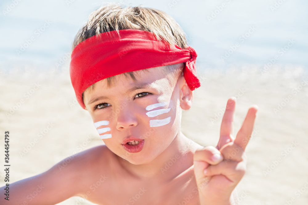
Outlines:
{"label": "boy's bare chest below his neck, at the bottom edge", "polygon": [[[155,180],[140,181],[118,178],[103,182],[88,200],[101,205],[197,205],[198,189],[193,176],[185,175],[160,184]],[[94,189],[93,189],[94,190]]]}

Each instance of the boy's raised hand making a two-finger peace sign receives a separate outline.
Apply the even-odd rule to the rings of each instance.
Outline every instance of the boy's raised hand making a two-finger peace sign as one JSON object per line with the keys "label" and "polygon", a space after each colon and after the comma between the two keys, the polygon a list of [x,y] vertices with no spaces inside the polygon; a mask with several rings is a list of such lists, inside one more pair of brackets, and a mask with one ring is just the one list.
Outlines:
{"label": "boy's raised hand making a two-finger peace sign", "polygon": [[245,174],[245,148],[253,132],[257,106],[249,108],[234,139],[235,103],[235,98],[228,100],[216,148],[206,146],[194,154],[194,171],[201,205],[234,204],[236,201],[232,193]]}

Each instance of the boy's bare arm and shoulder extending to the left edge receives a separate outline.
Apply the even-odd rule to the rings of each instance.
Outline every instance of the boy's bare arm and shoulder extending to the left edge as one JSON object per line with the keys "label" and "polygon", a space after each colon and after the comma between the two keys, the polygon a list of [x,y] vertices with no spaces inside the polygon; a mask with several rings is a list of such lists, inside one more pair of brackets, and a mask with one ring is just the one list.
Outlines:
{"label": "boy's bare arm and shoulder extending to the left edge", "polygon": [[5,187],[1,187],[0,204],[56,204],[82,193],[91,150],[67,157],[39,175],[11,183],[9,200],[4,199]]}

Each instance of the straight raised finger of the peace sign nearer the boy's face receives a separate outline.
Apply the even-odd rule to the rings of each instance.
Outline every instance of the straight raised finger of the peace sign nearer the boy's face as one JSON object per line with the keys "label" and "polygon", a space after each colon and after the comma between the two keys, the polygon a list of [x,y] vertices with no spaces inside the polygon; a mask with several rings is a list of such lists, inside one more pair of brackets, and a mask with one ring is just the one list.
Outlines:
{"label": "straight raised finger of the peace sign nearer the boy's face", "polygon": [[225,144],[232,142],[233,130],[234,130],[234,111],[235,111],[236,98],[229,98],[225,110],[225,114],[222,118],[221,128],[220,128],[220,138],[217,144],[217,148],[220,149]]}

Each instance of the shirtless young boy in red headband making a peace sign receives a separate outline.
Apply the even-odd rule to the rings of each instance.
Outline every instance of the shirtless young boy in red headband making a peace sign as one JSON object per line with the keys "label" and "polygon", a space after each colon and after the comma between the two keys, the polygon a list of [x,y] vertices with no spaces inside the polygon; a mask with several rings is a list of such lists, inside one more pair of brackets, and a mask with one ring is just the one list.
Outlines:
{"label": "shirtless young boy in red headband making a peace sign", "polygon": [[171,17],[108,4],[89,16],[73,49],[72,85],[105,145],[10,184],[9,200],[2,187],[1,204],[56,204],[72,196],[96,204],[237,204],[257,108],[234,139],[230,98],[216,148],[184,136],[182,109],[200,86],[197,53]]}

